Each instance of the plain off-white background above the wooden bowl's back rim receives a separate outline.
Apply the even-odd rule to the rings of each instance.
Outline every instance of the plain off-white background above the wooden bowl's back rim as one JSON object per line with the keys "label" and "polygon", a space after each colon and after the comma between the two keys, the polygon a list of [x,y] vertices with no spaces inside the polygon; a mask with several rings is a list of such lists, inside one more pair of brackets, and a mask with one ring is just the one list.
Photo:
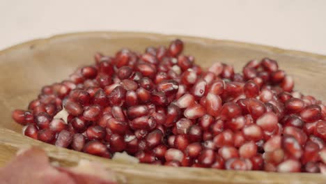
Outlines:
{"label": "plain off-white background above the wooden bowl's back rim", "polygon": [[75,31],[147,31],[326,55],[323,0],[0,0],[0,49]]}

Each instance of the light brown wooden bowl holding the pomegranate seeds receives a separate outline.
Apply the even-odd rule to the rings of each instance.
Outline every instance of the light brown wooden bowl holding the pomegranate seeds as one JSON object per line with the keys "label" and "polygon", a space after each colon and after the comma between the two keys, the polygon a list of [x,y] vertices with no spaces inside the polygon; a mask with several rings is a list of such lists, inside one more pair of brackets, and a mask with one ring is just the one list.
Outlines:
{"label": "light brown wooden bowl holding the pomegranate seeds", "polygon": [[78,66],[93,63],[93,54],[114,54],[122,47],[142,52],[147,46],[168,45],[175,38],[185,43],[185,54],[208,67],[216,61],[231,63],[240,71],[250,59],[268,56],[293,75],[295,89],[326,100],[326,56],[295,52],[262,45],[153,33],[71,33],[33,40],[0,52],[0,165],[17,148],[41,146],[52,160],[73,165],[81,158],[97,160],[125,176],[127,183],[326,183],[322,174],[277,174],[263,171],[160,167],[125,164],[35,141],[21,135],[21,126],[10,118],[13,109],[26,109],[42,86],[59,82]]}

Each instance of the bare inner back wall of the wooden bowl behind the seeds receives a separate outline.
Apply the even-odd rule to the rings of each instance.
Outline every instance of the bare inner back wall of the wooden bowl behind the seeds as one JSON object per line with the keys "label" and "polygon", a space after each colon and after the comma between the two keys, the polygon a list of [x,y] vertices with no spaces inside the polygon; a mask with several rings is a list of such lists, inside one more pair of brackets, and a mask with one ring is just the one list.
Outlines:
{"label": "bare inner back wall of the wooden bowl behind the seeds", "polygon": [[93,54],[114,54],[127,47],[143,52],[152,45],[168,45],[174,38],[185,43],[185,54],[204,68],[214,62],[231,63],[240,72],[247,61],[270,57],[295,79],[295,89],[326,100],[326,56],[272,47],[184,36],[148,33],[77,33],[35,40],[0,52],[0,125],[21,132],[10,118],[13,109],[26,109],[42,86],[67,79],[75,68],[93,64]]}

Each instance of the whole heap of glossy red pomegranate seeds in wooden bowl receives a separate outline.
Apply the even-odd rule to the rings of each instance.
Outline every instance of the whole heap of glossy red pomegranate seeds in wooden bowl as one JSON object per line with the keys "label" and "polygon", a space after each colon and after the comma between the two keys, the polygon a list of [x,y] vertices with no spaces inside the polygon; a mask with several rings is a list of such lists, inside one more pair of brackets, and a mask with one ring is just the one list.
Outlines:
{"label": "whole heap of glossy red pomegranate seeds in wooden bowl", "polygon": [[205,71],[183,47],[95,54],[95,65],[44,86],[13,119],[33,139],[104,158],[125,151],[173,167],[326,173],[326,106],[293,91],[277,61]]}

